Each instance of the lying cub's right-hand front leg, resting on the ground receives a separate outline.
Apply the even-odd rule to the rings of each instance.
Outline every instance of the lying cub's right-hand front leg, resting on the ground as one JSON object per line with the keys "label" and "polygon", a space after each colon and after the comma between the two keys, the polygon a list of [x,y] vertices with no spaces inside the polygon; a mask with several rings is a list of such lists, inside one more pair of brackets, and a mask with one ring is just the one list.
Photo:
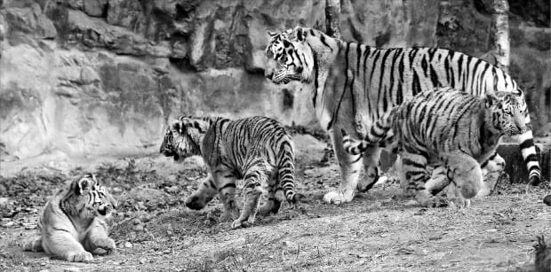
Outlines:
{"label": "lying cub's right-hand front leg, resting on the ground", "polygon": [[116,244],[108,237],[107,223],[94,219],[91,228],[84,238],[84,249],[94,254],[113,253]]}

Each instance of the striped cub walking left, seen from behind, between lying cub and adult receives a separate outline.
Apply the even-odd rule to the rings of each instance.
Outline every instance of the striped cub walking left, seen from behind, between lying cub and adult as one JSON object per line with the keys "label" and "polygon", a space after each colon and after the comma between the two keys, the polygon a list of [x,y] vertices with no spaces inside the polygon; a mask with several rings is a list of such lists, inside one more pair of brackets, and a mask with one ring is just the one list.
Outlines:
{"label": "striped cub walking left, seen from behind, between lying cub and adult", "polygon": [[[251,225],[257,211],[275,214],[284,199],[294,204],[302,197],[295,192],[291,136],[276,120],[180,117],[164,135],[161,152],[175,160],[203,156],[210,173],[186,199],[186,206],[202,209],[218,192],[224,204],[220,221],[234,220],[234,229]],[[244,179],[241,214],[235,200],[236,179]],[[259,209],[264,183],[268,200]]]}

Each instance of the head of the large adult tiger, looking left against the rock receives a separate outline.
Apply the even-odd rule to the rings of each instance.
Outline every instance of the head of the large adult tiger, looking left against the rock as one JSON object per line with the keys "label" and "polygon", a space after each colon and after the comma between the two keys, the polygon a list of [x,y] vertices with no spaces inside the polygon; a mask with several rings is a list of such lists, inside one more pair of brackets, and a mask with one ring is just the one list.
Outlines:
{"label": "head of the large adult tiger, looking left against the rock", "polygon": [[310,82],[314,71],[313,52],[305,35],[297,30],[287,29],[270,33],[266,47],[266,70],[264,76],[275,84],[291,81]]}

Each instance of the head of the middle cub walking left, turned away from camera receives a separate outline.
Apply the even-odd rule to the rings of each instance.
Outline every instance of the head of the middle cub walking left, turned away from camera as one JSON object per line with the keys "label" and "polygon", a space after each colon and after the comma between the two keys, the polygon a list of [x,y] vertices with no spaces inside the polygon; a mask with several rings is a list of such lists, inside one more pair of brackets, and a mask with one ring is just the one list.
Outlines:
{"label": "head of the middle cub walking left, turned away from camera", "polygon": [[193,155],[200,155],[201,149],[194,134],[198,128],[188,128],[188,123],[193,123],[188,118],[172,120],[164,134],[160,152],[166,157],[172,157],[174,161],[186,159]]}

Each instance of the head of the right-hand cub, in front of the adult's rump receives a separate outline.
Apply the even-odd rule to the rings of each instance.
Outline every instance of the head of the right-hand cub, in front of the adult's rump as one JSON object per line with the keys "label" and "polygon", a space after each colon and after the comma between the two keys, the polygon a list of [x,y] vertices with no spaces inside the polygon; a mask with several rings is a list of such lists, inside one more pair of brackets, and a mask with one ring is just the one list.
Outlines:
{"label": "head of the right-hand cub, in front of the adult's rump", "polygon": [[507,136],[526,132],[527,111],[522,90],[487,93],[484,101],[489,111],[488,123],[494,130]]}

